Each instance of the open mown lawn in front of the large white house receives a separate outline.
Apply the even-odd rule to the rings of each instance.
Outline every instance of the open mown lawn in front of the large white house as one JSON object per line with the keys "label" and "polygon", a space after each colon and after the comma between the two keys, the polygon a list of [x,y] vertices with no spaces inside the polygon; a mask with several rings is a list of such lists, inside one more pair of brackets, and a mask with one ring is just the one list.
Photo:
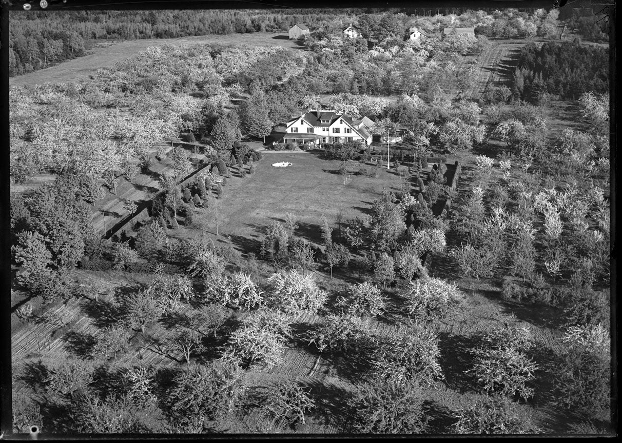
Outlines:
{"label": "open mown lawn in front of the large white house", "polygon": [[[254,175],[239,178],[234,167],[223,194],[226,221],[219,228],[220,235],[231,236],[234,246],[243,252],[258,247],[256,240],[265,228],[272,220],[284,221],[287,212],[299,217],[300,227],[295,234],[318,241],[322,214],[334,226],[339,209],[344,220],[361,217],[384,189],[399,191],[400,179],[394,170],[378,168],[376,178],[353,175],[344,186],[343,176],[337,173],[341,162],[323,160],[321,152],[266,151],[263,154],[264,158],[256,163]],[[290,162],[292,166],[272,167],[276,162]],[[368,166],[368,171],[371,168],[374,167]],[[207,220],[206,212],[198,209],[195,219]],[[211,232],[216,232],[215,226],[209,226]],[[197,232],[182,228],[169,234],[189,238]]]}

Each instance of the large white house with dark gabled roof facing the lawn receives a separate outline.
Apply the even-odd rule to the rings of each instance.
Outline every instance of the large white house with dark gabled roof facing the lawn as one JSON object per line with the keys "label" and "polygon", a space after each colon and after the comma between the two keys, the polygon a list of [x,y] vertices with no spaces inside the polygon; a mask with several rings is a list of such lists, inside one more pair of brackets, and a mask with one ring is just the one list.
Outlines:
{"label": "large white house with dark gabled roof facing the lawn", "polygon": [[284,143],[313,144],[362,142],[371,143],[371,127],[374,122],[363,117],[357,120],[343,112],[333,110],[309,111],[292,117],[285,125]]}

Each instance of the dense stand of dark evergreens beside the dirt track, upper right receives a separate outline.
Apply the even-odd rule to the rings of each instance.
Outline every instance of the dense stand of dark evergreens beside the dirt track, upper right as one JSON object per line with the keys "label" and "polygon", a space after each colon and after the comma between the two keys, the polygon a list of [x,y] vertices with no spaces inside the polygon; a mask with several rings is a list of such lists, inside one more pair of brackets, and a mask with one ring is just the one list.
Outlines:
{"label": "dense stand of dark evergreens beside the dirt track, upper right", "polygon": [[544,43],[522,48],[514,73],[514,93],[537,102],[543,94],[577,99],[609,88],[609,51],[579,42]]}

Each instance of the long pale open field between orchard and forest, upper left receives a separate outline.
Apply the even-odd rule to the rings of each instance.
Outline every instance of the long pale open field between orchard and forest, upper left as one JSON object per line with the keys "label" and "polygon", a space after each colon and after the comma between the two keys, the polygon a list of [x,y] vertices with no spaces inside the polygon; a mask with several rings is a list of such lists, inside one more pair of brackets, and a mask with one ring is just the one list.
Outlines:
{"label": "long pale open field between orchard and forest, upper left", "polygon": [[289,40],[285,32],[254,32],[251,34],[200,35],[197,37],[180,37],[179,39],[124,40],[111,42],[103,40],[96,45],[90,55],[74,58],[60,65],[51,66],[39,71],[11,77],[10,86],[24,84],[59,83],[64,81],[87,80],[89,75],[98,69],[109,68],[114,63],[126,58],[135,57],[139,52],[150,46],[162,45],[205,45],[216,43],[236,46],[270,46],[284,47],[291,50],[302,50],[294,40]]}

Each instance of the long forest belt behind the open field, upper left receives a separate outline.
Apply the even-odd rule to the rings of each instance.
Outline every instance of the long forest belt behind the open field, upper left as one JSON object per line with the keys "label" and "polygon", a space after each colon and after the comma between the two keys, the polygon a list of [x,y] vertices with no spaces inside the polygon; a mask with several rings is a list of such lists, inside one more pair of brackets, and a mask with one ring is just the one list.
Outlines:
{"label": "long forest belt behind the open field, upper left", "polygon": [[14,12],[9,29],[9,76],[85,55],[89,40],[285,32],[296,23],[313,28],[354,12],[346,10],[335,14],[322,9]]}

